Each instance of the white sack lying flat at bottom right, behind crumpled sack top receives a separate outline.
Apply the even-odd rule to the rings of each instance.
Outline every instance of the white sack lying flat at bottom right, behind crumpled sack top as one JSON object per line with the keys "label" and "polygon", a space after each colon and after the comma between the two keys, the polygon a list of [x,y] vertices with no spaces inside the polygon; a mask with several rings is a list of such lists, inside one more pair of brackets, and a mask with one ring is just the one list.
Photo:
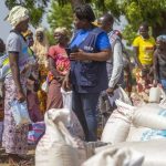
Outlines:
{"label": "white sack lying flat at bottom right, behind crumpled sack top", "polygon": [[166,166],[166,139],[148,141],[148,142],[124,142],[116,145],[108,145],[96,148],[96,153],[114,148],[132,148],[144,155],[143,166]]}

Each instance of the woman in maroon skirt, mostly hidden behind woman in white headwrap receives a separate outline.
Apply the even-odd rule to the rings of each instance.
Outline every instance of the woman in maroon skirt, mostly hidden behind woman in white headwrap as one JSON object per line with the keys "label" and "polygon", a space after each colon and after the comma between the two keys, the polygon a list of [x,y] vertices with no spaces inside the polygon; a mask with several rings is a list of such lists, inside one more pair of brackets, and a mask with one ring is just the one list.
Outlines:
{"label": "woman in maroon skirt, mostly hidden behind woman in white headwrap", "polygon": [[34,52],[31,49],[31,46],[34,43],[33,33],[31,30],[28,30],[25,33],[23,33],[23,37],[25,38],[27,43],[29,45],[28,51],[30,54],[31,63],[34,64],[32,68],[31,74],[28,79],[28,84],[27,84],[28,110],[29,110],[32,122],[39,122],[39,121],[42,121],[42,117],[40,113],[39,100],[38,100],[38,94],[37,94],[37,91],[39,89],[39,68],[38,68]]}

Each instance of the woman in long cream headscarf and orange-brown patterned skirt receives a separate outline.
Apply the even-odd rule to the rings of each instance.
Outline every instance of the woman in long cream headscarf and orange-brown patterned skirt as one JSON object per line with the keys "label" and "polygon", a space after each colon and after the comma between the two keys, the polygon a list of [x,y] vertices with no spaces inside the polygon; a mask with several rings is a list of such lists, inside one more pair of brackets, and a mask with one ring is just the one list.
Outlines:
{"label": "woman in long cream headscarf and orange-brown patterned skirt", "polygon": [[[49,43],[46,34],[43,28],[38,28],[34,37],[34,44],[32,50],[38,59],[39,73],[40,73],[40,86],[45,82],[48,75],[48,50]],[[46,110],[46,93],[41,89],[38,91],[40,111],[44,114]]]}

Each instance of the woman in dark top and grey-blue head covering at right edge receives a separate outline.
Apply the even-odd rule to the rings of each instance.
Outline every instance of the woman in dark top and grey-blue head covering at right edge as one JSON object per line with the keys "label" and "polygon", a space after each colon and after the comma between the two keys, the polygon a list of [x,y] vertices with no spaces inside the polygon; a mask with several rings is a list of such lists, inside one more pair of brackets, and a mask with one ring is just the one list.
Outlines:
{"label": "woman in dark top and grey-blue head covering at right edge", "polygon": [[157,37],[154,53],[154,85],[162,84],[166,93],[166,35]]}

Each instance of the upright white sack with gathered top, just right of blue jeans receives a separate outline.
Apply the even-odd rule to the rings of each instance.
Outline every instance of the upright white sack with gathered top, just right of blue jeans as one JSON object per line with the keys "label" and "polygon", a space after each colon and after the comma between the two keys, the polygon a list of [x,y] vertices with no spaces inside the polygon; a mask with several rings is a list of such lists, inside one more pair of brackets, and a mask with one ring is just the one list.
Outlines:
{"label": "upright white sack with gathered top, just right of blue jeans", "polygon": [[124,142],[128,135],[134,107],[121,101],[116,101],[117,110],[110,116],[102,133],[102,142]]}

